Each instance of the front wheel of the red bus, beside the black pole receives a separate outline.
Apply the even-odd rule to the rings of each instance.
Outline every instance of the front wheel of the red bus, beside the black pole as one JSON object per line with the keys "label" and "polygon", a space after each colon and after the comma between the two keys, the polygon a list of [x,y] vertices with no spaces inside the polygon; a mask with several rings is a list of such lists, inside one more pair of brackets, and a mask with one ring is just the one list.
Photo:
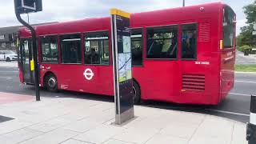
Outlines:
{"label": "front wheel of the red bus, beside the black pole", "polygon": [[54,74],[47,74],[44,79],[46,89],[51,92],[58,92],[58,81]]}

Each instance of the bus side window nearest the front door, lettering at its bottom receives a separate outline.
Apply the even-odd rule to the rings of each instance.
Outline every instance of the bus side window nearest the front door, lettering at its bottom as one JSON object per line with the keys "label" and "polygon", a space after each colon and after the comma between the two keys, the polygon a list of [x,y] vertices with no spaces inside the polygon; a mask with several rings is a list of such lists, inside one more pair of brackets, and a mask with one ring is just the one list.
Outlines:
{"label": "bus side window nearest the front door, lettering at its bottom", "polygon": [[58,63],[57,36],[44,36],[40,38],[42,62]]}

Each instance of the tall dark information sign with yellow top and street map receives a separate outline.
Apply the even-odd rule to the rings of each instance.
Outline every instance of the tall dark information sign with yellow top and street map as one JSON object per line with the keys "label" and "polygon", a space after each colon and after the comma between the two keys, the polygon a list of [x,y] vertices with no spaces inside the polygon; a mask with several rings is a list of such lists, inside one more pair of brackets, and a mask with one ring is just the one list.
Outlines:
{"label": "tall dark information sign with yellow top and street map", "polygon": [[133,80],[131,73],[130,14],[112,9],[112,54],[114,69],[115,123],[134,118]]}

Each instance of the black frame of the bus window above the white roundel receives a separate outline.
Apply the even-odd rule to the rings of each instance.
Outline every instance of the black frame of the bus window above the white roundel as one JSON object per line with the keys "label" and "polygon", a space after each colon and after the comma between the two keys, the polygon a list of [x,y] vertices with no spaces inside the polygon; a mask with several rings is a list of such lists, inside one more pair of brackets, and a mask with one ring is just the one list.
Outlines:
{"label": "black frame of the bus window above the white roundel", "polygon": [[[86,41],[86,34],[88,34],[88,33],[100,33],[100,32],[107,32],[107,35],[108,35],[108,41],[109,41],[109,63],[108,64],[86,64],[85,63],[85,46],[84,46],[84,44],[85,44],[85,41]],[[112,63],[111,61],[110,61],[110,58],[111,58],[111,56],[110,55],[112,55],[112,53],[110,53],[111,51],[110,51],[110,49],[112,49],[112,47],[110,46],[110,41],[111,41],[111,39],[110,39],[110,30],[94,30],[94,31],[85,31],[85,32],[83,32],[82,33],[82,40],[83,40],[83,46],[82,46],[82,55],[83,55],[83,65],[86,65],[86,66],[110,66],[110,63]],[[98,39],[98,40],[104,40],[104,39]],[[88,40],[88,41],[91,41],[91,40]]]}

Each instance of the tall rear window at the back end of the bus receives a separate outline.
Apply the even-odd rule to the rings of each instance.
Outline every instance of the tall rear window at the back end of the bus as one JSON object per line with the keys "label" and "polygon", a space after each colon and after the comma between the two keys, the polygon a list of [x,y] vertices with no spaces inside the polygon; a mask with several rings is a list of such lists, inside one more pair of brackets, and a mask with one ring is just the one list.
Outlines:
{"label": "tall rear window at the back end of the bus", "polygon": [[234,11],[230,7],[223,10],[223,46],[231,48],[234,46]]}

